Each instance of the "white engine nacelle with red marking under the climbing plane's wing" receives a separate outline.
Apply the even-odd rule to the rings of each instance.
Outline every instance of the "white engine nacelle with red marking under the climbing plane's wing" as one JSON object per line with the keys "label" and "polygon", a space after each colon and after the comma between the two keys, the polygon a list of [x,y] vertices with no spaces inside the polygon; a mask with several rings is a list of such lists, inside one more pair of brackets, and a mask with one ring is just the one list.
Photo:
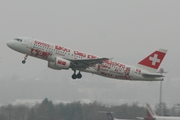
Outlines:
{"label": "white engine nacelle with red marking under the climbing plane's wing", "polygon": [[48,62],[48,67],[55,69],[55,70],[61,70],[61,69],[69,69],[71,62],[60,58],[56,57],[54,62]]}

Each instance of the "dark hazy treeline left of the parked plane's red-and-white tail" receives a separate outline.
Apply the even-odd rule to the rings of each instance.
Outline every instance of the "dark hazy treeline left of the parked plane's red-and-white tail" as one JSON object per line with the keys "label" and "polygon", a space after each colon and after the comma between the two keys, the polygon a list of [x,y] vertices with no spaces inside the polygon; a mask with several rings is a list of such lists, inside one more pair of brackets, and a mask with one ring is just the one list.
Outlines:
{"label": "dark hazy treeline left of the parked plane's red-and-white tail", "polygon": [[[111,107],[98,102],[89,104],[73,102],[55,105],[46,98],[42,103],[31,108],[25,105],[1,106],[0,120],[107,120],[107,116],[98,111],[113,111],[113,115],[121,119],[146,116],[145,108],[138,106],[138,103]],[[180,113],[176,111],[176,115],[180,115]]]}

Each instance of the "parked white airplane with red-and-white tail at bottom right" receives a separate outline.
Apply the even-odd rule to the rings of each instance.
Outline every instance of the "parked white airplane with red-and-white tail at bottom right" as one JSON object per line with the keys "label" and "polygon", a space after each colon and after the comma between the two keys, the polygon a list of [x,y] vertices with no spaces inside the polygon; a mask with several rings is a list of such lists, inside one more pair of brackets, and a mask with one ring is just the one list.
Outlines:
{"label": "parked white airplane with red-and-white tail at bottom right", "polygon": [[180,117],[156,115],[156,113],[151,109],[149,104],[146,104],[146,111],[147,116],[144,118],[137,117],[137,120],[180,120]]}

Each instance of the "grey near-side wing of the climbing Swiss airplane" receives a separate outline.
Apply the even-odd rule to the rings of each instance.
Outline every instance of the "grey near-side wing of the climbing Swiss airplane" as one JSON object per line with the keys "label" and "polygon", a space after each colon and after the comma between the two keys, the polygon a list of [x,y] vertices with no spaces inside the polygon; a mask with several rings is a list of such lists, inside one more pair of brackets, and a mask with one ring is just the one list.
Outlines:
{"label": "grey near-side wing of the climbing Swiss airplane", "polygon": [[104,60],[109,60],[109,58],[71,60],[71,65],[72,65],[72,68],[75,68],[75,69],[86,69],[95,64],[102,64]]}

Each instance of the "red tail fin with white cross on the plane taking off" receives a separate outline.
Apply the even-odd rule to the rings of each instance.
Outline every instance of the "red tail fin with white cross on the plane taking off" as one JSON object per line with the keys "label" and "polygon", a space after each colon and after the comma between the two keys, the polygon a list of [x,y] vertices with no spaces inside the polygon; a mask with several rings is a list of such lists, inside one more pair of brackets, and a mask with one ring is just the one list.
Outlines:
{"label": "red tail fin with white cross on the plane taking off", "polygon": [[166,49],[159,49],[140,61],[137,66],[155,73],[167,53]]}

